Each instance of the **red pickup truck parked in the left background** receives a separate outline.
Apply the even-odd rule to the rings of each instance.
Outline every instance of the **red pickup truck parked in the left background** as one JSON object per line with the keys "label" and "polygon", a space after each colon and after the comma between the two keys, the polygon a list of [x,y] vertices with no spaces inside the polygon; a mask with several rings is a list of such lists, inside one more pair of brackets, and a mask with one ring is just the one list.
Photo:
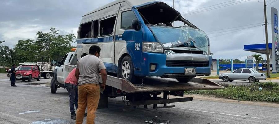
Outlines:
{"label": "red pickup truck parked in the left background", "polygon": [[37,65],[22,65],[18,68],[15,74],[16,80],[28,80],[31,82],[31,79],[41,80],[40,67]]}

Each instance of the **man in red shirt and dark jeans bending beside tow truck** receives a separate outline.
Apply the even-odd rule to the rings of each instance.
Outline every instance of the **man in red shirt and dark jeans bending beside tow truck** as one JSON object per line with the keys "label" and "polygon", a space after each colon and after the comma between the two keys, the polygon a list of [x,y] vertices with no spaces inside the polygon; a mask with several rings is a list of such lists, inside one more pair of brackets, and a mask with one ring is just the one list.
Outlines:
{"label": "man in red shirt and dark jeans bending beside tow truck", "polygon": [[[74,68],[65,80],[65,87],[68,91],[70,96],[70,112],[71,112],[71,119],[76,120],[76,113],[75,107],[78,110],[78,80],[75,76],[76,68]],[[86,116],[87,113],[84,114]]]}

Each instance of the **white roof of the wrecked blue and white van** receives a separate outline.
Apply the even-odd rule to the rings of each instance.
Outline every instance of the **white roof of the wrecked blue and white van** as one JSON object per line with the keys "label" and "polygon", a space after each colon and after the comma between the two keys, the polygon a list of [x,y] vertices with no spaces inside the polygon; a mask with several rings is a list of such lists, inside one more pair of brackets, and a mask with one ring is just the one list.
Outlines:
{"label": "white roof of the wrecked blue and white van", "polygon": [[141,6],[145,6],[145,5],[148,5],[148,4],[152,4],[152,3],[156,3],[156,2],[159,2],[159,1],[156,1],[156,0],[116,0],[116,1],[113,1],[113,2],[110,2],[102,7],[99,7],[93,11],[90,11],[88,13],[86,13],[84,16],[86,15],[89,15],[91,13],[94,13],[96,11],[100,11],[104,8],[107,8],[107,7],[110,7],[112,5],[115,5],[117,3],[121,3],[121,2],[127,2],[131,7],[133,8],[137,8],[137,7],[141,7]]}

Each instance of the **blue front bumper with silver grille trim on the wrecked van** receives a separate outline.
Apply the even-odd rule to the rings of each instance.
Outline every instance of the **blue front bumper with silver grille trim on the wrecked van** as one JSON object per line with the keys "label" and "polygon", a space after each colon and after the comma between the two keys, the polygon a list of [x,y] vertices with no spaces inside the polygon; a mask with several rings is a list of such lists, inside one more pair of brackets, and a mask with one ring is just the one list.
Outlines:
{"label": "blue front bumper with silver grille trim on the wrecked van", "polygon": [[[166,60],[178,60],[178,61],[205,61],[208,62],[208,65],[205,67],[196,67],[196,66],[166,66]],[[164,78],[175,78],[175,77],[195,77],[208,76],[211,74],[211,64],[212,56],[211,55],[201,55],[201,54],[179,54],[179,55],[166,55],[163,53],[142,53],[142,62],[141,69],[134,69],[136,76],[160,76]],[[155,65],[155,70],[150,70],[151,65]],[[185,75],[185,68],[196,68],[195,75]]]}

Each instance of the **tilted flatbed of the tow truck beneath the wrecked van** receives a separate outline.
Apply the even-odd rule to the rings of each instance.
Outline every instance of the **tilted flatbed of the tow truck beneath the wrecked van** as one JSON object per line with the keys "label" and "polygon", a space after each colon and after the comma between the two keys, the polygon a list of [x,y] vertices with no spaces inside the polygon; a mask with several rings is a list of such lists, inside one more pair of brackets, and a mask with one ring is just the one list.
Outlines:
{"label": "tilted flatbed of the tow truck beneath the wrecked van", "polygon": [[[75,66],[73,65],[65,65],[65,71],[70,72],[74,68]],[[126,96],[126,99],[129,101],[125,102],[125,104],[133,106],[133,108],[140,105],[147,108],[147,105],[151,104],[153,104],[153,109],[170,108],[175,106],[167,106],[167,103],[192,101],[193,97],[168,99],[167,95],[183,96],[183,91],[224,88],[215,82],[201,78],[193,78],[187,83],[178,82],[176,79],[172,78],[160,77],[145,77],[141,80],[142,83],[133,84],[126,79],[108,75],[106,89],[100,93],[98,108],[108,108],[108,97],[115,98],[118,96]],[[101,76],[100,83],[102,83]],[[157,95],[161,93],[163,93],[163,97],[157,97]],[[164,106],[157,107],[157,104],[163,104]]]}

